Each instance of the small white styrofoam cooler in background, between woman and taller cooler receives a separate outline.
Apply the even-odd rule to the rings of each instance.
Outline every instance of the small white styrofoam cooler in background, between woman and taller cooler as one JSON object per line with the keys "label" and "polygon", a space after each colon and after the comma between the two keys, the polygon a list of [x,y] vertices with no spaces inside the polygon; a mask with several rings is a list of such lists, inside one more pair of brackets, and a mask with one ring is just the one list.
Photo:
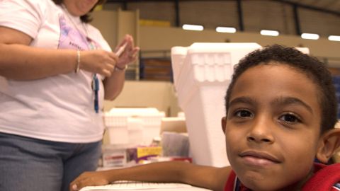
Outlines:
{"label": "small white styrofoam cooler in background, between woman and taller cooler", "polygon": [[159,137],[164,112],[156,108],[113,108],[105,113],[110,144],[149,145]]}

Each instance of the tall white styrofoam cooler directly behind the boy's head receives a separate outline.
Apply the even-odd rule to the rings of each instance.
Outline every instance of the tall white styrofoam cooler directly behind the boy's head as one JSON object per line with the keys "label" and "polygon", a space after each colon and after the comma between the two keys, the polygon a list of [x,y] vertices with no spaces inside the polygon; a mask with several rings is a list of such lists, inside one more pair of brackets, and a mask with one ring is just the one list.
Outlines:
{"label": "tall white styrofoam cooler directly behind the boy's head", "polygon": [[186,115],[194,163],[229,165],[221,127],[225,92],[234,64],[260,47],[256,43],[193,43],[171,48],[174,85]]}

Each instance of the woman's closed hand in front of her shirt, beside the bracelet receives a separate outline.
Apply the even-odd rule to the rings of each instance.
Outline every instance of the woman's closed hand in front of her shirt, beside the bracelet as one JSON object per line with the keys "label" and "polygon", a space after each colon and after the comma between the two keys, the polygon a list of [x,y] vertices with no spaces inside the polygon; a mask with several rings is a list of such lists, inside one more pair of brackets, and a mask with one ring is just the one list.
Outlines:
{"label": "woman's closed hand in front of her shirt, beside the bracelet", "polygon": [[110,77],[118,57],[105,50],[86,50],[80,52],[80,69]]}

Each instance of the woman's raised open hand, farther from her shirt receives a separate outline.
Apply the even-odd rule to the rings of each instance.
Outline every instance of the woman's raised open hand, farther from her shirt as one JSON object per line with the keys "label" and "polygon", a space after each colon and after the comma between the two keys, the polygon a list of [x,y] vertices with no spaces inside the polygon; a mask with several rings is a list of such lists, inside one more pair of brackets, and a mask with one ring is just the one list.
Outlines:
{"label": "woman's raised open hand, farther from her shirt", "polygon": [[123,41],[120,42],[120,45],[115,47],[115,52],[117,52],[119,48],[122,47],[125,43],[127,43],[125,50],[122,54],[120,54],[117,62],[117,66],[120,69],[125,68],[127,64],[135,62],[138,56],[138,51],[140,50],[140,47],[135,47],[132,36],[125,35]]}

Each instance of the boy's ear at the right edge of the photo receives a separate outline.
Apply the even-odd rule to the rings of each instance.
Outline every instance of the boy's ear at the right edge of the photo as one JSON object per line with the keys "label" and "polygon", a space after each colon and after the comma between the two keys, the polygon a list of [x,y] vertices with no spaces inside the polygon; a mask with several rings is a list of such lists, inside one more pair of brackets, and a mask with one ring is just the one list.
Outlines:
{"label": "boy's ear at the right edge of the photo", "polygon": [[319,145],[317,149],[317,159],[322,163],[328,163],[340,146],[340,129],[334,128],[324,133],[319,139]]}

